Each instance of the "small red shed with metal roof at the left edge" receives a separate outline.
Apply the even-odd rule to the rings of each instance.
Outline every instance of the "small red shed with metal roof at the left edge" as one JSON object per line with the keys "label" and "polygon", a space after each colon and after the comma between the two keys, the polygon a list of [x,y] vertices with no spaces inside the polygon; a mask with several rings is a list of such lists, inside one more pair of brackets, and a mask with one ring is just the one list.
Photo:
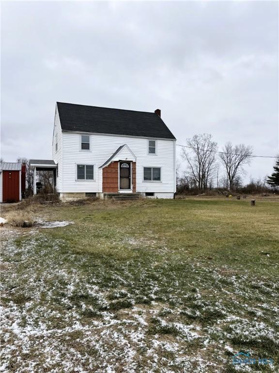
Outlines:
{"label": "small red shed with metal roof at the left edge", "polygon": [[[23,188],[21,188],[21,185]],[[21,165],[21,163],[1,163],[0,202],[21,201],[22,189],[25,190],[25,165]]]}

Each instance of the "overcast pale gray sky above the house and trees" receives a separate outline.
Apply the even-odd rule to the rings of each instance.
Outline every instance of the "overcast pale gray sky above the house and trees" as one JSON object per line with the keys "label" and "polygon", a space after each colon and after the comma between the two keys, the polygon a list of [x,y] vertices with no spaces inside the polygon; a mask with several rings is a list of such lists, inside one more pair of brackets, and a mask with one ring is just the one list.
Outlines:
{"label": "overcast pale gray sky above the house and trees", "polygon": [[[1,156],[51,159],[55,102],[154,111],[276,155],[278,2],[2,2]],[[179,150],[178,150],[179,151]],[[255,159],[247,178],[272,170]]]}

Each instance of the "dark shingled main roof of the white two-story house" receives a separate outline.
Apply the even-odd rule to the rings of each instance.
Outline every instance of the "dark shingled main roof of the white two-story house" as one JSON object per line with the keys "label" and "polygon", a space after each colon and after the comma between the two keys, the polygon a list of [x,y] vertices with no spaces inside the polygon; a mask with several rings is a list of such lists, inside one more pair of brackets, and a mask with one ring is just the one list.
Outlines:
{"label": "dark shingled main roof of the white two-story house", "polygon": [[155,113],[57,102],[62,131],[175,139]]}

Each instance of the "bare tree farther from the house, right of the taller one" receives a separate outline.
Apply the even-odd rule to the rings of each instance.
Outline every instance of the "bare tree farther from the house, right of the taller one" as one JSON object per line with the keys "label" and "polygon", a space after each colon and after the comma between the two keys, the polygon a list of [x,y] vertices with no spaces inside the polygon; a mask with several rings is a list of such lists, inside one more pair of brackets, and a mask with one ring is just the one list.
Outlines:
{"label": "bare tree farther from the house, right of the taller one", "polygon": [[219,154],[229,179],[230,190],[233,190],[236,177],[245,173],[244,165],[250,164],[252,151],[250,145],[239,144],[233,146],[231,142],[227,142],[222,149],[223,153]]}

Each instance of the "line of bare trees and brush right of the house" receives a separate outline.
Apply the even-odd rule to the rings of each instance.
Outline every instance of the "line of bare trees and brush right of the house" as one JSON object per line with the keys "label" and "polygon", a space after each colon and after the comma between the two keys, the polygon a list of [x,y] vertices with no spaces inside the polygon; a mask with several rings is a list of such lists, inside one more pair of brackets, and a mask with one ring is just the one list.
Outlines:
{"label": "line of bare trees and brush right of the house", "polygon": [[251,179],[247,186],[243,186],[242,176],[245,166],[250,165],[253,148],[250,145],[227,142],[218,151],[217,142],[210,134],[195,135],[186,139],[182,147],[181,156],[186,161],[186,170],[178,176],[177,190],[206,191],[215,187],[226,190],[240,190],[246,188],[247,193],[263,191],[268,187],[276,191],[279,188],[279,158],[274,167],[274,173],[263,180]]}

